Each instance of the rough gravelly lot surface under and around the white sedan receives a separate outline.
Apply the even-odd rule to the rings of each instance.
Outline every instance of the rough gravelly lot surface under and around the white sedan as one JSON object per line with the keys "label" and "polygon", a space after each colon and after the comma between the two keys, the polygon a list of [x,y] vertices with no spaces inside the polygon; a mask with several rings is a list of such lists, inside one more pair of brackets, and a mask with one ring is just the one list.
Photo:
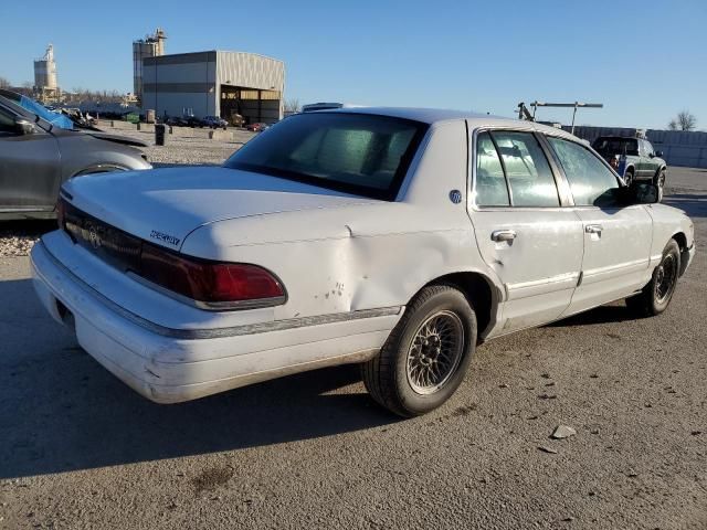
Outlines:
{"label": "rough gravelly lot surface under and around the white sedan", "polygon": [[707,528],[707,170],[668,178],[698,253],[663,316],[492,341],[411,421],[352,367],[149,403],[0,257],[0,528]]}

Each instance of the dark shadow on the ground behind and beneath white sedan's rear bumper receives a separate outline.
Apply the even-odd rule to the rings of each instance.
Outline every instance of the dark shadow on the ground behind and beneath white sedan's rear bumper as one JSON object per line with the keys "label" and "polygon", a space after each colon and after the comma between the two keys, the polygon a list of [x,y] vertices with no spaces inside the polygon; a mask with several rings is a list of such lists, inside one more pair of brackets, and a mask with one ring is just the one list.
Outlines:
{"label": "dark shadow on the ground behind and beneath white sedan's rear bumper", "polygon": [[0,478],[262,447],[398,421],[357,385],[356,365],[158,405],[45,316],[31,280],[1,282],[0,298],[10,297],[23,301],[14,316],[0,310]]}

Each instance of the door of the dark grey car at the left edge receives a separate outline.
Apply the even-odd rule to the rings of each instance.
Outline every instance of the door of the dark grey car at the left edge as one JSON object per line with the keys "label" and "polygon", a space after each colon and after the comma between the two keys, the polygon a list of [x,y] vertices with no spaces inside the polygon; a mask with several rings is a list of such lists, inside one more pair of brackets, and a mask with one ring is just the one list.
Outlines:
{"label": "door of the dark grey car at the left edge", "polygon": [[0,105],[0,211],[52,210],[61,166],[56,139],[39,126],[23,134],[22,116]]}

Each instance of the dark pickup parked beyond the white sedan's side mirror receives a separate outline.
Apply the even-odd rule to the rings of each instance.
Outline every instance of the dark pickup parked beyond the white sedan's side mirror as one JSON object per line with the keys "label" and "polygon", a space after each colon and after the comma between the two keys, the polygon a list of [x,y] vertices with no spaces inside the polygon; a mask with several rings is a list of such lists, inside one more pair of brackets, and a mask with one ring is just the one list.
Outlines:
{"label": "dark pickup parked beyond the white sedan's side mirror", "polygon": [[[659,199],[663,199],[665,173],[667,165],[651,142],[643,138],[623,136],[600,136],[592,142],[592,147],[606,160],[612,168],[621,170],[626,184],[633,180],[648,180],[658,187]],[[625,157],[625,165],[620,168],[621,158]]]}

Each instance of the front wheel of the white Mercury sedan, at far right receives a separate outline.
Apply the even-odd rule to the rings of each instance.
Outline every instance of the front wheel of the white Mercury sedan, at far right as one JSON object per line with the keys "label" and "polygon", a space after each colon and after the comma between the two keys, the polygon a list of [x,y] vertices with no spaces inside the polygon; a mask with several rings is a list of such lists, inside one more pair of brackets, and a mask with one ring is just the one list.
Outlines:
{"label": "front wheel of the white Mercury sedan, at far right", "polygon": [[626,298],[626,306],[639,315],[653,317],[662,314],[673,299],[680,271],[680,248],[671,240],[663,251],[663,257],[651,282],[641,293]]}

